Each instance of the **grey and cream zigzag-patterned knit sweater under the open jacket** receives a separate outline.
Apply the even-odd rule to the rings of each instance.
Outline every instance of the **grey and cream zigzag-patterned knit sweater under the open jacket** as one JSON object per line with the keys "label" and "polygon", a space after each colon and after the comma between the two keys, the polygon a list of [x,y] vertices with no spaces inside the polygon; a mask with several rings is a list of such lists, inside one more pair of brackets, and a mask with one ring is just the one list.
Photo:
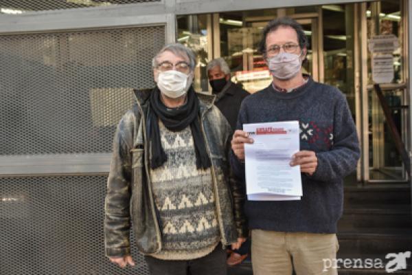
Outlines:
{"label": "grey and cream zigzag-patterned knit sweater under the open jacket", "polygon": [[162,232],[161,252],[151,256],[164,260],[206,256],[220,241],[211,170],[196,168],[190,126],[172,132],[159,122],[159,131],[168,160],[150,171]]}

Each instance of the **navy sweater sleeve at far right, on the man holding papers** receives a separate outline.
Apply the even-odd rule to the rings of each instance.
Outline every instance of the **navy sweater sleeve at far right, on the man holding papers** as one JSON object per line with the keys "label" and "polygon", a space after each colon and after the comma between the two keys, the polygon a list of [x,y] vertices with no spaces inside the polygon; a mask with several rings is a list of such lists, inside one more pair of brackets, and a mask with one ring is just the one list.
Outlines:
{"label": "navy sweater sleeve at far right, on the man holding papers", "polygon": [[341,95],[334,107],[333,141],[330,151],[317,152],[317,168],[312,178],[330,181],[343,178],[356,168],[359,156],[356,126],[346,99]]}

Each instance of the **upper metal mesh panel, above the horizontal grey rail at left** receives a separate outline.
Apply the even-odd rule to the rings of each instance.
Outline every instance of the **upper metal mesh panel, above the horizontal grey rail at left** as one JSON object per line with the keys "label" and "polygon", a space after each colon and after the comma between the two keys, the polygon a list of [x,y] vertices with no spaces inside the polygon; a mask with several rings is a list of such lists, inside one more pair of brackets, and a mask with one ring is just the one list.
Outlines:
{"label": "upper metal mesh panel, above the horizontal grey rail at left", "polygon": [[104,153],[165,27],[0,36],[0,155]]}

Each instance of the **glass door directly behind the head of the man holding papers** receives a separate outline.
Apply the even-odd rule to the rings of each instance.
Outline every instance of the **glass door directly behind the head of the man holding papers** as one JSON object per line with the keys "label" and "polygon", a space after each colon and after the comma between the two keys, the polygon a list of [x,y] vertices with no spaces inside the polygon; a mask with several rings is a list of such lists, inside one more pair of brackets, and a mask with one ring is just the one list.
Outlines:
{"label": "glass door directly behind the head of the man holding papers", "polygon": [[[272,81],[264,58],[258,52],[258,44],[262,29],[277,14],[279,9],[219,14],[220,56],[225,58],[231,69],[233,83],[242,85],[249,93],[266,88]],[[288,15],[293,17],[293,14]],[[310,42],[304,72],[319,80],[317,18],[303,17],[299,14],[297,21],[303,26]]]}

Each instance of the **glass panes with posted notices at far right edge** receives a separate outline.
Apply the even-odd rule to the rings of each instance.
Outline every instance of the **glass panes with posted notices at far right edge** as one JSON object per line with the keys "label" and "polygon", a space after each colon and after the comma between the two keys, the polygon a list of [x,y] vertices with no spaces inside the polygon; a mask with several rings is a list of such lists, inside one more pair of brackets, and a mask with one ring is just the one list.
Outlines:
{"label": "glass panes with posted notices at far right edge", "polygon": [[[402,18],[401,0],[379,1],[367,3],[367,39],[376,35],[393,34],[398,39],[400,47],[393,52],[392,83],[404,84],[402,64]],[[374,84],[371,70],[371,52],[368,51],[368,84]],[[374,53],[375,56],[378,54]],[[389,105],[391,118],[404,144],[408,144],[408,118],[406,107],[407,89],[383,89],[383,96]],[[382,111],[382,104],[374,89],[368,90],[368,131],[369,131],[369,179],[395,180],[406,179],[402,157],[396,150],[395,142],[387,117]],[[408,150],[408,149],[407,149]]]}

